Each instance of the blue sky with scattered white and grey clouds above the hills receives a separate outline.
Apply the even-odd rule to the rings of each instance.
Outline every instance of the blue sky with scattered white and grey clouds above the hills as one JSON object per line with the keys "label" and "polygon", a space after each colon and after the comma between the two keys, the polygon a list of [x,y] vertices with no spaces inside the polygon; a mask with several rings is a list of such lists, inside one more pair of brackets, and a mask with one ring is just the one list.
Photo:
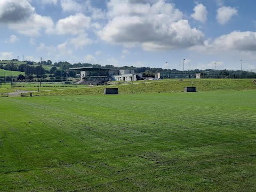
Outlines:
{"label": "blue sky with scattered white and grey clouds above the hills", "polygon": [[252,70],[255,7],[253,0],[1,0],[0,60]]}

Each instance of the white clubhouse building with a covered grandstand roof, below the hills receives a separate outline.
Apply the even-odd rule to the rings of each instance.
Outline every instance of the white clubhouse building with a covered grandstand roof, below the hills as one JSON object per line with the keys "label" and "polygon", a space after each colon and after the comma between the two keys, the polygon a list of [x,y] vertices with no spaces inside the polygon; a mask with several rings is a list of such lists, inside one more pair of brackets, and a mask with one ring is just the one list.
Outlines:
{"label": "white clubhouse building with a covered grandstand roof, below the hills", "polygon": [[81,81],[137,81],[141,74],[133,69],[114,69],[106,67],[77,67],[70,70],[81,71]]}

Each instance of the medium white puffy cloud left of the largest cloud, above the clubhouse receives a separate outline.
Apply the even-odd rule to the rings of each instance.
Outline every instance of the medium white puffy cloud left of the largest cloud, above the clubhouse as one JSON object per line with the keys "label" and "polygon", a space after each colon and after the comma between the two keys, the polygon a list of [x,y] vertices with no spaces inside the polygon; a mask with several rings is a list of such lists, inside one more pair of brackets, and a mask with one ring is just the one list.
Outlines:
{"label": "medium white puffy cloud left of the largest cloud, above the clubhouse", "polygon": [[85,29],[90,27],[91,18],[82,13],[70,15],[65,19],[60,19],[56,26],[57,34],[77,35],[85,33]]}

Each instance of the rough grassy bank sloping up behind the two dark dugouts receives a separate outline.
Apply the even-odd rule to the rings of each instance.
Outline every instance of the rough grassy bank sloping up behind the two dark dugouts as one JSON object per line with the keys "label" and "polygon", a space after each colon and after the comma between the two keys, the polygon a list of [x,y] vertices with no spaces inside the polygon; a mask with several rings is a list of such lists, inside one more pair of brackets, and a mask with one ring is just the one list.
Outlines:
{"label": "rough grassy bank sloping up behind the two dark dugouts", "polygon": [[[193,83],[191,83],[193,81]],[[183,92],[187,86],[196,86],[197,91],[230,91],[256,90],[256,83],[252,79],[192,79],[177,81],[167,79],[163,81],[138,81],[133,84],[111,86],[78,87],[69,90],[40,92],[39,95],[80,95],[103,94],[107,87],[118,87],[120,94],[127,93],[170,93]]]}

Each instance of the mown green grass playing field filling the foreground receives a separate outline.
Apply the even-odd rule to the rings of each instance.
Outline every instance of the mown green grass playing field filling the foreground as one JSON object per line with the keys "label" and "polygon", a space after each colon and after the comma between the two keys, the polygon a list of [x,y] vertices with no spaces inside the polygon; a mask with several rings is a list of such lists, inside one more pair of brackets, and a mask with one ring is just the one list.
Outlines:
{"label": "mown green grass playing field filling the foreground", "polygon": [[0,191],[254,191],[255,100],[255,90],[0,98]]}

